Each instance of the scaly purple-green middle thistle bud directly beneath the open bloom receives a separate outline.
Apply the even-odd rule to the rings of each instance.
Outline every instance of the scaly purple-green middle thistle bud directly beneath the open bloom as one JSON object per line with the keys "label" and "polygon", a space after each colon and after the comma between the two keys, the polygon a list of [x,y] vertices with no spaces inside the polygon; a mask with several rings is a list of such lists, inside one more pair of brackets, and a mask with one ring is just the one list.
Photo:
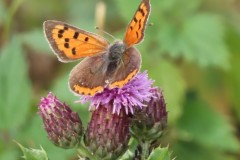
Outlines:
{"label": "scaly purple-green middle thistle bud directly beneath the open bloom", "polygon": [[99,106],[92,113],[84,142],[97,159],[115,160],[126,151],[129,138],[127,114],[112,114],[112,110]]}

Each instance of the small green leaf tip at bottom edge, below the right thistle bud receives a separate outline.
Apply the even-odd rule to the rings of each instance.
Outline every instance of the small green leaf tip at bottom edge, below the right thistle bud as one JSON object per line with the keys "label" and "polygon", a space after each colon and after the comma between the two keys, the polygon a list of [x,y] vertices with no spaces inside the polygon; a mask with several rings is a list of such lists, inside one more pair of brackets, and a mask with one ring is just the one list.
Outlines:
{"label": "small green leaf tip at bottom edge, below the right thistle bud", "polygon": [[148,160],[171,160],[171,153],[168,150],[168,147],[166,148],[156,148],[153,150],[148,157]]}

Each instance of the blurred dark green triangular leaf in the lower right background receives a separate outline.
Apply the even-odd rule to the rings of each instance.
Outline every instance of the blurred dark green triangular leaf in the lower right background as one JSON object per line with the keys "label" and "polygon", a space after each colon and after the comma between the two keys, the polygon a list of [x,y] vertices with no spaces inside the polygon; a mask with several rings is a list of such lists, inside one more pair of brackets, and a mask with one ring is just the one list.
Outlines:
{"label": "blurred dark green triangular leaf in the lower right background", "polygon": [[238,153],[240,144],[226,118],[203,101],[194,96],[190,98],[177,125],[181,139],[220,151]]}

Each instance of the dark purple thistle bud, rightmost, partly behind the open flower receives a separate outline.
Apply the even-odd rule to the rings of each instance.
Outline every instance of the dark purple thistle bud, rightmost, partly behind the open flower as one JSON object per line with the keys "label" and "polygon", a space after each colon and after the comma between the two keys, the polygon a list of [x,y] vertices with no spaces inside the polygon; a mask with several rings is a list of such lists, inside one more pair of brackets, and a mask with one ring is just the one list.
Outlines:
{"label": "dark purple thistle bud, rightmost, partly behind the open flower", "polygon": [[150,142],[157,140],[167,127],[167,111],[162,92],[153,88],[152,93],[153,97],[146,103],[146,107],[133,115],[130,130],[135,137]]}

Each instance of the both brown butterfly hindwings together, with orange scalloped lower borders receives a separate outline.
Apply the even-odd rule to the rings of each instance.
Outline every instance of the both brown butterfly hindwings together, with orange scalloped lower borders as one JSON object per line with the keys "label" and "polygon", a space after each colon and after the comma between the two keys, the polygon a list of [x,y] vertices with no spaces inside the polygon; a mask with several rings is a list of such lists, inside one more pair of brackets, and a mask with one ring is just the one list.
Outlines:
{"label": "both brown butterfly hindwings together, with orange scalloped lower borders", "polygon": [[106,55],[83,59],[70,73],[69,86],[76,94],[93,96],[105,87],[121,88],[139,71],[141,55],[128,48],[121,61],[112,64]]}

